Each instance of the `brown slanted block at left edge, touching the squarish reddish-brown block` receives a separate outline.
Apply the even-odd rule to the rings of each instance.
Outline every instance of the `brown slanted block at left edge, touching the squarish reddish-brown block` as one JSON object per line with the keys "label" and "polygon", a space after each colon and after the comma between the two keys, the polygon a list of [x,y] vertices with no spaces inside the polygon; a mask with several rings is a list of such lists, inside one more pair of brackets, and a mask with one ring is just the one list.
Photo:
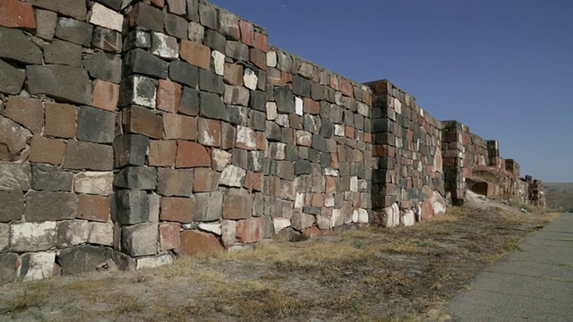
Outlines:
{"label": "brown slanted block at left edge, touching the squarish reddish-brown block", "polygon": [[21,123],[34,134],[39,134],[44,126],[44,106],[38,99],[8,97],[4,115]]}

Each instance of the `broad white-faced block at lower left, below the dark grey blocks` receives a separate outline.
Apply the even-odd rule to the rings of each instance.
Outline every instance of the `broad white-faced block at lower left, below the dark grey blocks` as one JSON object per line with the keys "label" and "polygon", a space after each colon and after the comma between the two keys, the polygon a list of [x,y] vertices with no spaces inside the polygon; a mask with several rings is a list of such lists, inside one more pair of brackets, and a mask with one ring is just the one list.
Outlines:
{"label": "broad white-faced block at lower left, below the dark grey blocks", "polygon": [[10,232],[10,250],[39,251],[56,246],[56,222],[13,224]]}

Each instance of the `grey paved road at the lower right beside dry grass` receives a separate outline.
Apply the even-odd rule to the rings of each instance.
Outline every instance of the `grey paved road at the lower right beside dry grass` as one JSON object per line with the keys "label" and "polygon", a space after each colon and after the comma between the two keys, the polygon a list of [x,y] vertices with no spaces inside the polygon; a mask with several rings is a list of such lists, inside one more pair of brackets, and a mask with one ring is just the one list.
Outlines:
{"label": "grey paved road at the lower right beside dry grass", "polygon": [[573,321],[573,214],[519,246],[449,302],[452,321]]}

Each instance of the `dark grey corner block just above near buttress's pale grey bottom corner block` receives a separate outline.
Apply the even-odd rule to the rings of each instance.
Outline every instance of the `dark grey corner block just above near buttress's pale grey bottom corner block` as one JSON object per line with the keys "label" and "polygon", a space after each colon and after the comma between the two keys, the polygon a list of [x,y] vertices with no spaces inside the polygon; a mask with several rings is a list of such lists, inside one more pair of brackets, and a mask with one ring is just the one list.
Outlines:
{"label": "dark grey corner block just above near buttress's pale grey bottom corner block", "polygon": [[147,192],[145,191],[115,191],[115,207],[117,221],[122,225],[144,223],[150,216]]}

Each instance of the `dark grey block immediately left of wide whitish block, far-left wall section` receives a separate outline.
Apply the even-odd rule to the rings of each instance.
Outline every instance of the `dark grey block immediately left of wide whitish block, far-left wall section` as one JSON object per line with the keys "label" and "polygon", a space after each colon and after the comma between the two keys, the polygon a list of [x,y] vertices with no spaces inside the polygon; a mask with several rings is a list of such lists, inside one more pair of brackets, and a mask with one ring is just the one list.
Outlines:
{"label": "dark grey block immediately left of wide whitish block, far-left wall section", "polygon": [[36,191],[72,191],[73,173],[54,165],[32,164],[31,186]]}

